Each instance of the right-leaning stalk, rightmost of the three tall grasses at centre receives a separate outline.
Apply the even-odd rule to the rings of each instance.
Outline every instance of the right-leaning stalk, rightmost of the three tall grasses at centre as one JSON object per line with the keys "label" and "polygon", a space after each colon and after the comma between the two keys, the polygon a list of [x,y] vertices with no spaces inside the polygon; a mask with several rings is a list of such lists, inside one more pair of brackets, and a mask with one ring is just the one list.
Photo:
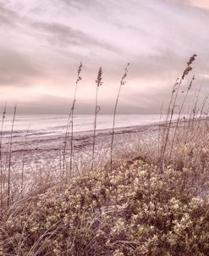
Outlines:
{"label": "right-leaning stalk, rightmost of the three tall grasses at centre", "polygon": [[125,67],[124,75],[122,76],[121,81],[120,81],[120,85],[118,88],[118,94],[117,94],[115,106],[114,106],[114,112],[113,112],[113,129],[112,129],[111,144],[110,144],[110,170],[111,171],[113,170],[113,144],[114,144],[114,132],[115,132],[115,118],[116,118],[116,112],[117,112],[118,100],[119,100],[121,88],[126,83],[125,78],[128,75],[128,68],[129,68],[129,63]]}

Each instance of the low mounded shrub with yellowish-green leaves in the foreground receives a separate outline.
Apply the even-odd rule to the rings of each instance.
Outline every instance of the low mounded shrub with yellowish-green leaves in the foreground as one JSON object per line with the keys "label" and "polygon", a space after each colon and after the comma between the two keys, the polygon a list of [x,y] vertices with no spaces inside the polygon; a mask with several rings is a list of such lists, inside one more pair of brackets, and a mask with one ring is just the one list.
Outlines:
{"label": "low mounded shrub with yellowish-green leaves in the foreground", "polygon": [[[208,198],[191,170],[143,161],[53,187],[1,224],[3,255],[207,255]],[[195,174],[198,178],[198,172]],[[204,186],[208,191],[208,184]]]}

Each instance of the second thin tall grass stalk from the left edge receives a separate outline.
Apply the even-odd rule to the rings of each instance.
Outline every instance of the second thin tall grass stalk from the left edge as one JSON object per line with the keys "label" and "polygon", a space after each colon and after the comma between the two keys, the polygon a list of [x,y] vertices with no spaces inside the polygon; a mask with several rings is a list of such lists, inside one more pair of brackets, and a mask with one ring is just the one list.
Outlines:
{"label": "second thin tall grass stalk from the left edge", "polygon": [[17,104],[15,104],[14,106],[14,115],[13,115],[12,128],[10,132],[9,150],[8,150],[8,206],[10,203],[10,192],[11,192],[11,159],[12,159],[13,131],[14,131],[14,121],[15,121],[16,111],[17,111]]}

